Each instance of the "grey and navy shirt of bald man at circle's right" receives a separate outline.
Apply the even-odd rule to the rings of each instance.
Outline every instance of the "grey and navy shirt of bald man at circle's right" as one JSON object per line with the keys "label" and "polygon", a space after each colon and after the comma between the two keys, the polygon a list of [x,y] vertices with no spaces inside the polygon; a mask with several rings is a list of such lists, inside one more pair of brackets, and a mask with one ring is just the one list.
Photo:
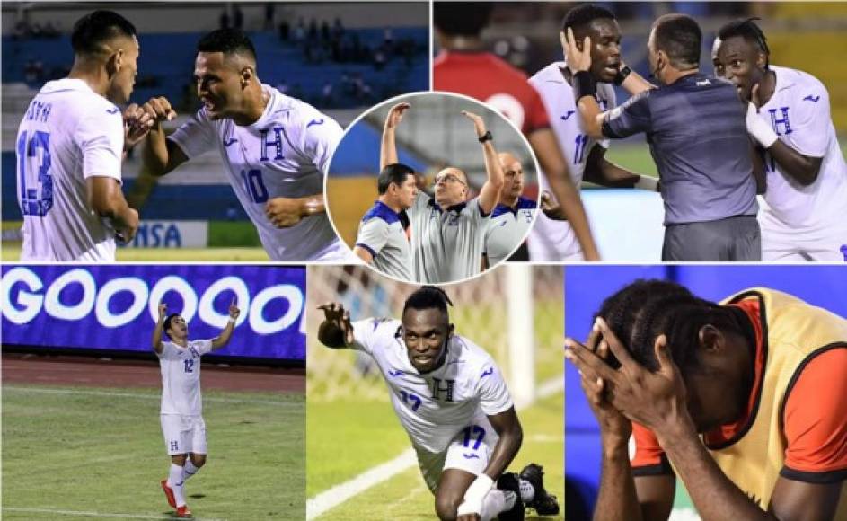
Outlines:
{"label": "grey and navy shirt of bald man at circle's right", "polygon": [[509,253],[524,240],[530,225],[533,224],[535,208],[533,199],[517,198],[513,207],[497,205],[491,212],[491,218],[485,228],[485,255],[489,266],[504,261]]}

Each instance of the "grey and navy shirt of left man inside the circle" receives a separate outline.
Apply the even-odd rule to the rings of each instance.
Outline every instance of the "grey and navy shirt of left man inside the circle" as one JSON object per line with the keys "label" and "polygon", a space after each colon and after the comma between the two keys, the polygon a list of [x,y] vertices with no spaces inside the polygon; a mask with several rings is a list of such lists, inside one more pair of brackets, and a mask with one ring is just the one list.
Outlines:
{"label": "grey and navy shirt of left man inside the circle", "polygon": [[386,275],[414,280],[411,273],[409,239],[400,214],[381,201],[376,201],[358,225],[356,245],[374,258],[373,265]]}

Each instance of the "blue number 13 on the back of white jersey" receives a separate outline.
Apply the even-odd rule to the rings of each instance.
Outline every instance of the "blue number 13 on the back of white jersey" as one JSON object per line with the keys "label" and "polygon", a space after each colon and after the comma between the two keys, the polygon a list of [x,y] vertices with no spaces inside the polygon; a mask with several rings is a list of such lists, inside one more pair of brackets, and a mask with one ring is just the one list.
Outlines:
{"label": "blue number 13 on the back of white jersey", "polygon": [[[41,149],[41,162],[38,164],[38,181],[35,188],[27,187],[27,165],[31,157],[38,157]],[[50,175],[50,135],[36,130],[28,139],[22,132],[18,137],[18,180],[21,190],[21,212],[24,216],[46,216],[53,208],[53,176]],[[39,186],[40,185],[40,186]],[[39,191],[40,188],[40,191]]]}

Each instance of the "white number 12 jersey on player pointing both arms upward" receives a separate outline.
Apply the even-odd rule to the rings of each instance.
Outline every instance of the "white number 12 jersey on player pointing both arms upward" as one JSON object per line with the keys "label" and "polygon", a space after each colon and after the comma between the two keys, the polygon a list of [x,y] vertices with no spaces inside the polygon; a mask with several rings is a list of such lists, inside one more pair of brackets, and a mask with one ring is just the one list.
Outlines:
{"label": "white number 12 jersey on player pointing both arms upward", "polygon": [[156,353],[162,370],[161,414],[202,414],[200,357],[211,350],[212,340],[189,340],[185,348],[162,341],[162,352]]}

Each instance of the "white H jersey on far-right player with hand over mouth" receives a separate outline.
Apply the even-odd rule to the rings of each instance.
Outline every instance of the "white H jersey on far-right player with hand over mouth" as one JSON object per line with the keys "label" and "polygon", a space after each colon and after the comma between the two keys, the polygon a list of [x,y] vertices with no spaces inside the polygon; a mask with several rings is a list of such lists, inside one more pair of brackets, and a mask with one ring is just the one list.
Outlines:
{"label": "white H jersey on far-right player with hand over mouth", "polygon": [[763,244],[766,235],[797,238],[816,236],[837,255],[847,244],[847,164],[835,135],[829,93],[815,76],[781,66],[771,66],[776,87],[760,109],[783,143],[802,155],[823,157],[817,179],[802,186],[770,155],[765,157],[767,191],[759,214]]}

